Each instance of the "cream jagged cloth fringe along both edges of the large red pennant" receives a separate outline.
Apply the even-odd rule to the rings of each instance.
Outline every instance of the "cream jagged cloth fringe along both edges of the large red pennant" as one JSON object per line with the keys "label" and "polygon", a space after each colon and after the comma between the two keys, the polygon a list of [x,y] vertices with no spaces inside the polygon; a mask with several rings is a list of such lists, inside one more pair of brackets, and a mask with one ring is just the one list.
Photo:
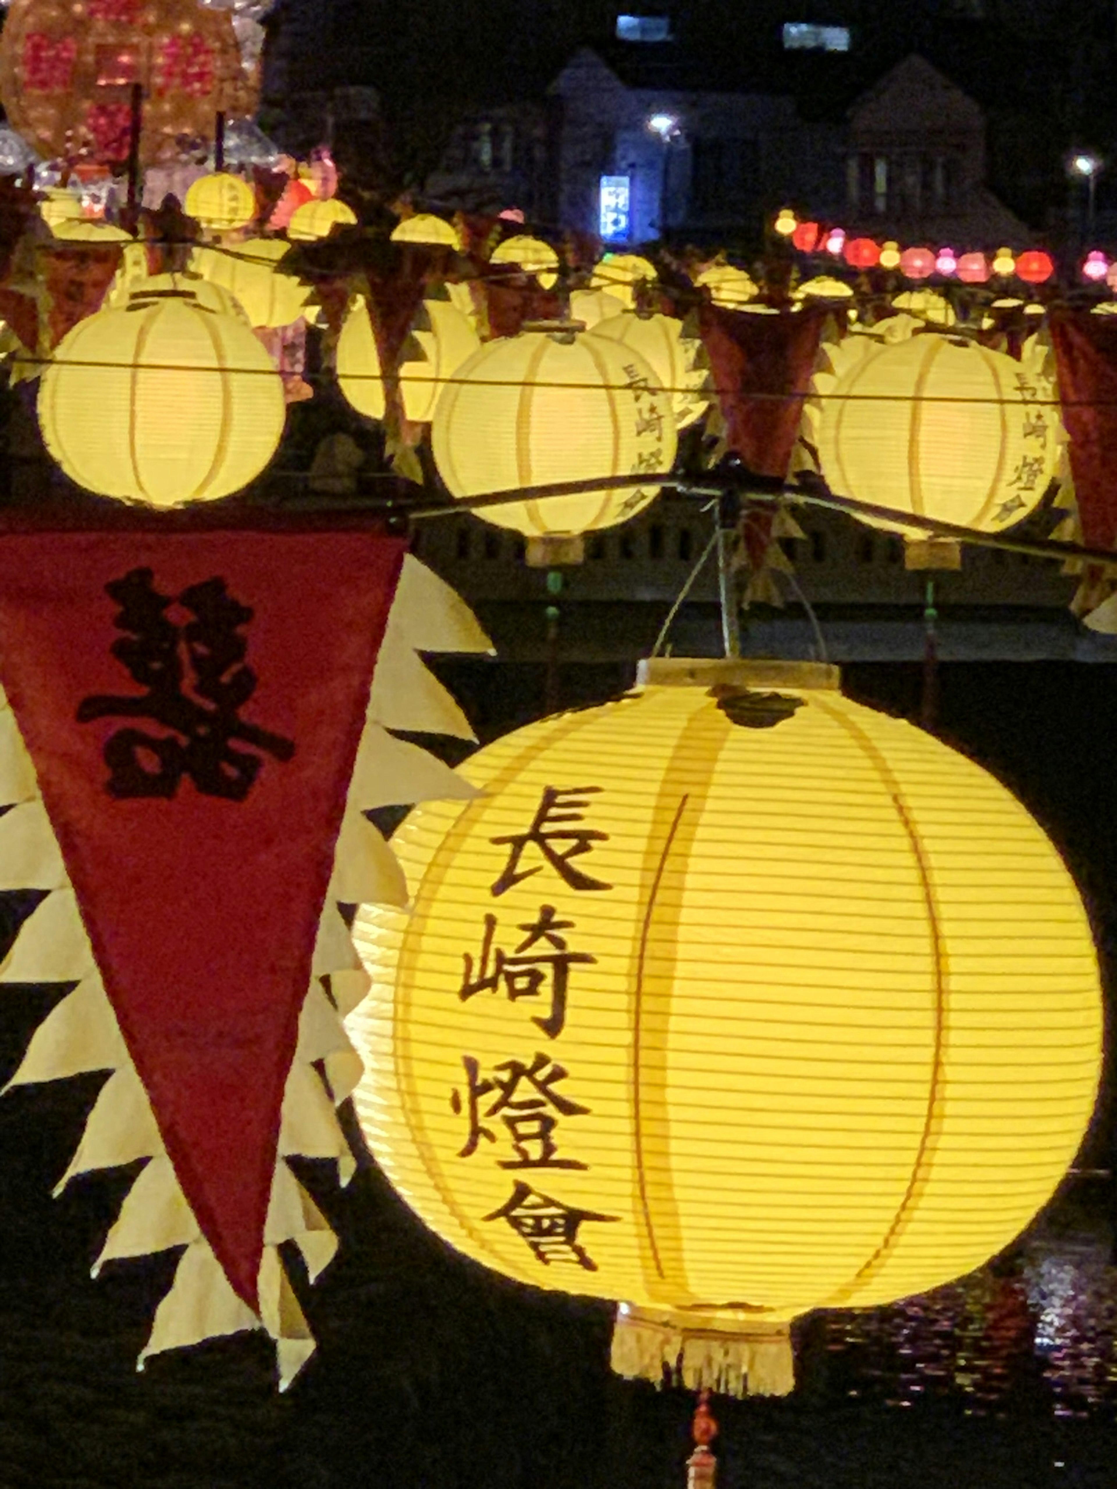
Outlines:
{"label": "cream jagged cloth fringe along both edges of the large red pennant", "polygon": [[[276,1342],[283,1391],[314,1352],[280,1246],[293,1242],[311,1282],[329,1266],[338,1246],[329,1221],[290,1172],[287,1157],[334,1160],[343,1185],[356,1172],[335,1108],[349,1099],[362,1074],[343,1018],[363,1001],[369,978],[338,902],[371,899],[405,905],[408,901],[395,853],[365,812],[477,795],[448,765],[389,733],[474,737],[462,710],[426,670],[420,651],[491,652],[491,643],[462,600],[408,557],[371,683],[350,785],[351,806],[338,835],[334,877],[311,959],[311,984],[284,1090],[259,1269],[259,1312],[234,1292],[182,1191],[95,965],[34,767],[0,692],[0,804],[7,806],[0,816],[0,890],[45,892],[0,963],[0,984],[76,984],[39,1026],[6,1088],[110,1072],[55,1194],[82,1173],[146,1160],[92,1269],[95,1278],[106,1263],[185,1248],[174,1282],[156,1309],[139,1368],[168,1349],[265,1328]],[[411,688],[416,691],[408,692]]]}

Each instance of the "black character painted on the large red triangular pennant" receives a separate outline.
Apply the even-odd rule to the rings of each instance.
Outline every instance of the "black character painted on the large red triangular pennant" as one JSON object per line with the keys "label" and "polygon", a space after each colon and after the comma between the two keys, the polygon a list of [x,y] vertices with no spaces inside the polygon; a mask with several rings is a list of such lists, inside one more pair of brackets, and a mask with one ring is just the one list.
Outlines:
{"label": "black character painted on the large red triangular pennant", "polygon": [[[241,634],[253,612],[234,600],[219,578],[167,596],[155,588],[150,569],[133,569],[107,584],[106,593],[121,606],[116,627],[125,633],[113,642],[112,654],[147,691],[85,698],[77,722],[146,719],[167,731],[125,727],[112,734],[104,744],[106,791],[118,798],[171,798],[189,776],[204,795],[244,801],[264,765],[255,752],[277,761],[295,753],[290,740],[240,718],[256,691]],[[167,612],[176,606],[192,619],[171,619]],[[194,675],[191,691],[186,663]]]}

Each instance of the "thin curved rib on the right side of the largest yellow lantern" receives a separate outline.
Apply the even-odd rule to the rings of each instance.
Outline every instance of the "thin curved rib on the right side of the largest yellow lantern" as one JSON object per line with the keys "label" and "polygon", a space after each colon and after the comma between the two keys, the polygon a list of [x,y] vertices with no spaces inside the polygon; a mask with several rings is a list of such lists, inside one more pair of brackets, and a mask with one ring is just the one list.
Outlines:
{"label": "thin curved rib on the right side of the largest yellow lantern", "polygon": [[932,1038],[932,1056],[931,1056],[931,1080],[928,1081],[926,1094],[926,1111],[923,1114],[923,1130],[919,1138],[919,1147],[916,1150],[914,1163],[911,1164],[911,1176],[908,1179],[904,1196],[897,1206],[897,1214],[892,1218],[880,1245],[873,1252],[873,1255],[865,1261],[862,1267],[858,1269],[856,1275],[843,1288],[831,1294],[830,1298],[822,1303],[822,1307],[840,1307],[843,1301],[852,1298],[856,1291],[870,1281],[870,1278],[880,1270],[880,1267],[892,1255],[897,1242],[907,1227],[908,1217],[916,1205],[916,1199],[926,1184],[928,1173],[931,1169],[934,1145],[938,1136],[938,1127],[941,1124],[941,1097],[943,1097],[943,1077],[944,1077],[944,1045],[946,1045],[946,1015],[947,1015],[947,978],[949,968],[946,959],[946,946],[943,941],[943,929],[938,916],[938,905],[935,901],[935,889],[931,879],[931,865],[928,864],[926,853],[923,852],[923,844],[919,838],[916,823],[904,801],[903,791],[900,789],[900,782],[892,774],[885,756],[880,753],[877,744],[865,734],[865,731],[840,709],[833,707],[822,698],[812,700],[819,709],[828,713],[836,722],[838,722],[846,733],[853,739],[865,753],[876,773],[879,774],[885,791],[888,792],[892,806],[897,810],[897,816],[904,828],[904,834],[911,847],[911,855],[916,862],[916,871],[919,874],[919,884],[923,895],[923,904],[926,907],[928,929],[931,938],[931,954],[934,965],[934,1038]]}

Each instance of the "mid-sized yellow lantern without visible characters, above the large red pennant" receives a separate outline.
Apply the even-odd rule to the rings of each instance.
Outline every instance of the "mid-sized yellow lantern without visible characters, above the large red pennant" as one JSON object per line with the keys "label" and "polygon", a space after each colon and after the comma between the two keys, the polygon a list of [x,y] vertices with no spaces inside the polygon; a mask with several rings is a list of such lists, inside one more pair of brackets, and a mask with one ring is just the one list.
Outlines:
{"label": "mid-sized yellow lantern without visible characters, above the large red pennant", "polygon": [[[43,374],[46,448],[79,485],[150,506],[243,490],[283,433],[283,383],[237,316],[171,275],[100,310]],[[220,292],[213,292],[220,295]]]}

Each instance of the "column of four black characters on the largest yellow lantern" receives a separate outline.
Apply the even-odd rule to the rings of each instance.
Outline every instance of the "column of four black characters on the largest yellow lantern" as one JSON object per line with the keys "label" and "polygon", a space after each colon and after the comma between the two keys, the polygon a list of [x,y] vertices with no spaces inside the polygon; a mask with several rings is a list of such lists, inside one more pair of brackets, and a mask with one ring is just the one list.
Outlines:
{"label": "column of four black characters on the largest yellow lantern", "polygon": [[[578,895],[612,889],[582,862],[609,838],[587,822],[599,792],[600,786],[545,786],[523,832],[491,838],[508,853],[491,886],[494,899],[536,876],[542,876],[541,887],[547,884],[551,898],[563,890]],[[532,1023],[548,1041],[558,1041],[566,1029],[572,971],[596,963],[597,957],[578,947],[573,910],[541,904],[538,914],[515,925],[515,932],[511,926],[502,929],[496,914],[486,914],[480,951],[462,953],[459,1001],[465,1004],[481,993],[509,1004],[530,1001],[539,1010]],[[474,1056],[463,1054],[462,1069],[462,1085],[450,1096],[451,1111],[465,1124],[459,1158],[489,1157],[497,1167],[518,1172],[588,1169],[567,1144],[572,1136],[576,1141],[573,1124],[590,1108],[576,1099],[576,1080],[553,1050],[529,1045],[487,1071]],[[554,1185],[554,1179],[539,1182]],[[617,1219],[566,1205],[524,1179],[515,1181],[505,1205],[483,1218],[506,1221],[542,1266],[566,1264],[587,1272],[597,1267],[579,1240],[582,1224]]]}

